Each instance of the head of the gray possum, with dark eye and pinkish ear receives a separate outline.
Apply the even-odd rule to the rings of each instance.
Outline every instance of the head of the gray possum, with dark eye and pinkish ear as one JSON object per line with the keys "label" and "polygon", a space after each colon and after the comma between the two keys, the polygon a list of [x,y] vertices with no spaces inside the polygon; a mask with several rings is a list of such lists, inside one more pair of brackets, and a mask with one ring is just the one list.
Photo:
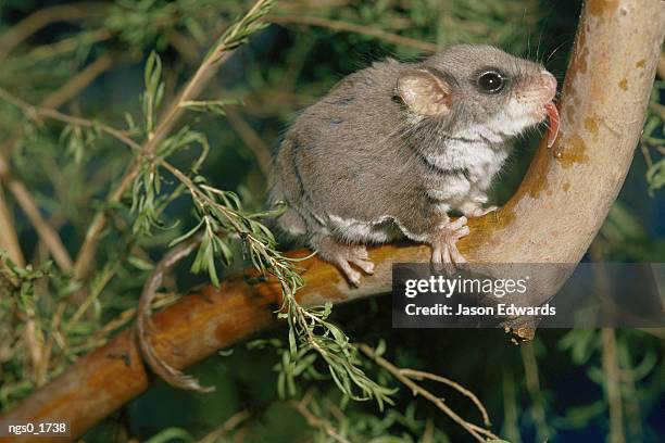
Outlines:
{"label": "head of the gray possum, with dark eye and pinkish ear", "polygon": [[555,107],[556,79],[543,66],[485,45],[460,45],[411,65],[396,93],[410,117],[452,137],[501,142]]}

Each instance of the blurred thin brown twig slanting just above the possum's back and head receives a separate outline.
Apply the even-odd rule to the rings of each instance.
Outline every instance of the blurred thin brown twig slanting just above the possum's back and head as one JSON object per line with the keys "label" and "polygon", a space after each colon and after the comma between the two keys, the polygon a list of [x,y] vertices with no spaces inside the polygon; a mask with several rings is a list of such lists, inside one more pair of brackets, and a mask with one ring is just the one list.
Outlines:
{"label": "blurred thin brown twig slanting just above the possum's back and head", "polygon": [[427,41],[416,40],[415,38],[400,36],[398,34],[387,33],[381,29],[373,28],[367,25],[359,25],[355,23],[341,22],[322,17],[311,17],[303,15],[277,15],[271,14],[267,20],[278,25],[308,25],[324,27],[332,30],[340,30],[346,33],[355,33],[364,36],[377,38],[379,40],[387,41],[393,45],[401,45],[421,49],[427,52],[437,52],[441,48],[438,45],[429,43]]}

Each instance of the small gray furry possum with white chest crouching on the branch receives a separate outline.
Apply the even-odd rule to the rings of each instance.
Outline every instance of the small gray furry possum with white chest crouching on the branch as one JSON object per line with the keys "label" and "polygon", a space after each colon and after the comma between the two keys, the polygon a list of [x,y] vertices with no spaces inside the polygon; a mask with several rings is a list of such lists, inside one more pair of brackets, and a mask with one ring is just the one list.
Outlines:
{"label": "small gray furry possum with white chest crouching on the branch", "polygon": [[[388,59],[349,75],[305,109],[274,161],[276,220],[360,284],[365,245],[428,243],[434,263],[464,263],[456,242],[510,154],[510,140],[550,115],[556,79],[543,66],[482,45],[418,63]],[[555,137],[555,135],[554,135]],[[449,212],[462,217],[451,220]]]}

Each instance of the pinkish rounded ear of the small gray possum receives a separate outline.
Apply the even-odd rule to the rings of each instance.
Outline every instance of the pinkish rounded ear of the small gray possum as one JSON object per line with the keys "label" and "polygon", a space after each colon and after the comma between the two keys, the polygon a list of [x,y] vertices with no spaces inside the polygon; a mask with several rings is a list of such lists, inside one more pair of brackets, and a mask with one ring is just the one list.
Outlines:
{"label": "pinkish rounded ear of the small gray possum", "polygon": [[434,74],[414,69],[398,78],[397,93],[414,113],[442,116],[450,112],[450,86]]}

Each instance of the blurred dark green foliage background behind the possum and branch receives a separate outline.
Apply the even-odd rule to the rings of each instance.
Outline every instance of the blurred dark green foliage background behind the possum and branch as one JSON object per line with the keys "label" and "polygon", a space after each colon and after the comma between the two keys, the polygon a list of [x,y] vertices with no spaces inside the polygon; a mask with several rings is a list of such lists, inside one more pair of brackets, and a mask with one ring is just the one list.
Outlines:
{"label": "blurred dark green foliage background behind the possum and branch", "polygon": [[[61,11],[58,20],[12,40],[12,33],[15,37],[29,17],[45,11],[55,14],[59,7],[72,4],[76,8]],[[128,122],[141,115],[139,96],[148,54],[154,50],[162,60],[164,102],[168,103],[214,38],[250,7],[251,2],[242,0],[0,0],[0,87],[36,104],[85,66],[109,58],[100,75],[61,110],[130,128]],[[226,116],[186,117],[186,124],[204,134],[211,147],[200,173],[215,187],[237,192],[247,208],[261,210],[269,157],[297,113],[346,75],[386,56],[417,60],[427,54],[427,43],[492,43],[544,63],[563,80],[580,8],[581,2],[573,0],[279,1],[268,16],[273,24],[233,54],[203,94],[237,99],[242,104],[228,106]],[[658,189],[665,176],[662,88],[656,80],[642,143],[622,194],[585,260],[665,258],[665,201]],[[0,101],[0,115],[5,148],[16,128],[23,128],[11,152],[3,153],[12,173],[26,183],[42,215],[75,254],[95,211],[104,204],[109,187],[125,170],[131,153],[92,130],[34,122],[5,101]],[[516,142],[493,190],[494,201],[507,200],[519,183],[538,138],[532,131]],[[197,154],[197,149],[184,150],[174,163],[188,165]],[[166,179],[164,187],[173,189],[174,183]],[[12,197],[7,199],[26,260],[39,268],[48,263],[48,253]],[[25,306],[2,299],[0,409],[11,408],[77,355],[103,342],[106,337],[99,332],[135,306],[151,265],[168,242],[196,224],[191,204],[177,199],[165,212],[165,228],[137,236],[131,229],[130,202],[123,204],[102,237],[92,282],[110,277],[101,286],[93,314],[67,332],[63,340],[70,346],[54,353],[43,374],[35,374],[22,342]],[[173,227],[175,221],[179,225]],[[135,253],[137,246],[142,255]],[[222,277],[246,265],[239,246],[235,248],[237,260],[222,270]],[[22,292],[35,300],[35,315],[43,320],[45,334],[51,331],[49,320],[55,305],[49,298],[75,290],[66,275],[49,273],[47,283],[35,276],[29,290]],[[165,287],[184,292],[206,281],[184,265]],[[470,389],[487,406],[493,432],[506,441],[603,442],[611,441],[612,432],[612,441],[624,441],[616,440],[619,436],[629,442],[665,440],[662,330],[617,330],[611,336],[622,375],[622,427],[611,432],[602,364],[607,336],[601,331],[541,330],[532,343],[516,346],[499,330],[393,330],[390,315],[389,298],[380,296],[335,307],[332,321],[353,342],[376,345],[385,341],[386,357],[398,366],[428,370]],[[149,392],[91,430],[85,441],[198,441],[238,413],[241,422],[218,441],[335,441],[326,426],[352,442],[470,441],[451,419],[403,387],[393,395],[394,405],[382,412],[374,402],[343,400],[326,377],[298,379],[297,395],[280,397],[275,369],[280,357],[275,344],[286,340],[286,328],[266,331],[260,339],[263,341],[238,344],[190,369],[203,384],[215,385],[216,393],[192,394],[155,382]],[[374,366],[366,370],[386,385],[399,385]],[[446,387],[426,384],[462,417],[480,422],[467,398]],[[317,425],[308,422],[296,407],[304,404],[303,398]]]}

